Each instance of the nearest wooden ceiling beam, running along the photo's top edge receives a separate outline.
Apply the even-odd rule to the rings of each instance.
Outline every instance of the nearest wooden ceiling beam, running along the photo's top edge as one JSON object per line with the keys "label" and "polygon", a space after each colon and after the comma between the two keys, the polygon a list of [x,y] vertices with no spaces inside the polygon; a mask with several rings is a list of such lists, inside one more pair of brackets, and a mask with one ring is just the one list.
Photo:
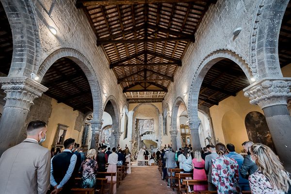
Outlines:
{"label": "nearest wooden ceiling beam, running along the photo's top edge", "polygon": [[76,6],[94,6],[94,5],[131,5],[131,4],[152,4],[152,3],[179,3],[179,2],[211,2],[216,0],[77,0]]}

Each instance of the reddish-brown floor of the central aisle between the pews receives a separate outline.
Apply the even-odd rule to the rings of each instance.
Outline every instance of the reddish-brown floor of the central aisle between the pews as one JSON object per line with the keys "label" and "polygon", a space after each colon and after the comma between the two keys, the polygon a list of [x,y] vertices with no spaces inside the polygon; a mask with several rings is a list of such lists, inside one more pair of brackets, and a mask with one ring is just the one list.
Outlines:
{"label": "reddish-brown floor of the central aisle between the pews", "polygon": [[158,166],[131,167],[131,174],[121,182],[117,194],[177,194],[167,188]]}

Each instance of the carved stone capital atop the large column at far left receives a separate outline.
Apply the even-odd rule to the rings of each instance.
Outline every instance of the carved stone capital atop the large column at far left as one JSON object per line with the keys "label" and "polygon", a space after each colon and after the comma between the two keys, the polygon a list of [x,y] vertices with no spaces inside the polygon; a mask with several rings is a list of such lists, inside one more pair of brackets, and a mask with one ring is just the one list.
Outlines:
{"label": "carved stone capital atop the large column at far left", "polygon": [[28,77],[0,77],[2,89],[6,93],[5,107],[21,108],[29,111],[33,100],[41,97],[49,88]]}

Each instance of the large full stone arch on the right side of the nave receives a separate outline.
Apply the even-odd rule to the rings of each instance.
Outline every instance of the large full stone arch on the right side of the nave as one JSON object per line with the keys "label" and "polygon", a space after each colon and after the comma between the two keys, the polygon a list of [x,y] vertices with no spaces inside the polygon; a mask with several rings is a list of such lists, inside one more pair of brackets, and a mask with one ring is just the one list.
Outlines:
{"label": "large full stone arch on the right side of the nave", "polygon": [[242,68],[242,71],[244,72],[248,81],[251,82],[253,72],[251,71],[250,66],[239,54],[230,49],[218,49],[211,52],[202,60],[202,62],[199,64],[196,71],[194,72],[194,78],[189,89],[188,99],[188,116],[190,123],[198,121],[198,96],[205,75],[212,67],[212,65],[223,59],[232,60],[237,65],[239,65]]}

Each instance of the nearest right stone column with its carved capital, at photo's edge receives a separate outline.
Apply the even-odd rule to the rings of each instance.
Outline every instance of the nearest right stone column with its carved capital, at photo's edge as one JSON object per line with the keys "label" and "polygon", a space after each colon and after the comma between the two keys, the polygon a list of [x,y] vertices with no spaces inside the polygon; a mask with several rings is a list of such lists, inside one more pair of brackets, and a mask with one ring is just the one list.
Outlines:
{"label": "nearest right stone column with its carved capital, at photo's edge", "polygon": [[263,110],[280,160],[287,171],[291,171],[291,117],[287,99],[291,98],[291,78],[257,81],[243,91],[250,104]]}

